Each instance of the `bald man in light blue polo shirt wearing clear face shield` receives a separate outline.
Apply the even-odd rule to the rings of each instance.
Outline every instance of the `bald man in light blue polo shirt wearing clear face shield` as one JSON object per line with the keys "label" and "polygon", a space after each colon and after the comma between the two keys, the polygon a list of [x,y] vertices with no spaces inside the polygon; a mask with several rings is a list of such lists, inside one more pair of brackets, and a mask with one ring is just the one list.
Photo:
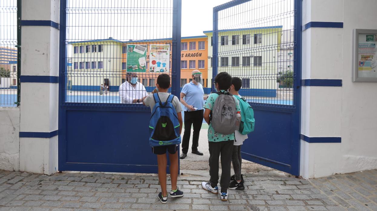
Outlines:
{"label": "bald man in light blue polo shirt wearing clear face shield", "polygon": [[191,152],[196,155],[203,155],[202,152],[198,151],[198,146],[199,133],[203,122],[203,104],[207,96],[204,97],[202,73],[199,70],[194,70],[191,77],[193,80],[185,84],[181,91],[181,103],[185,106],[185,131],[182,138],[181,159],[184,159],[189,151],[191,126],[194,129]]}

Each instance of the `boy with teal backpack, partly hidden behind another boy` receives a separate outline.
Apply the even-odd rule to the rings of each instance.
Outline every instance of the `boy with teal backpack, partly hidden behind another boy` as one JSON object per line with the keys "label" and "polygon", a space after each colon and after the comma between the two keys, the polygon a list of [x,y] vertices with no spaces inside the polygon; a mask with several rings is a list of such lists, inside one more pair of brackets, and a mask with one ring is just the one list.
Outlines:
{"label": "boy with teal backpack, partly hidden behind another boy", "polygon": [[244,190],[244,178],[241,174],[241,145],[246,140],[247,134],[254,131],[254,111],[250,104],[239,95],[238,91],[242,87],[242,80],[239,77],[232,77],[232,85],[230,86],[230,93],[233,94],[239,101],[241,107],[241,123],[238,131],[234,131],[234,144],[232,152],[232,164],[234,175],[230,178],[229,189]]}

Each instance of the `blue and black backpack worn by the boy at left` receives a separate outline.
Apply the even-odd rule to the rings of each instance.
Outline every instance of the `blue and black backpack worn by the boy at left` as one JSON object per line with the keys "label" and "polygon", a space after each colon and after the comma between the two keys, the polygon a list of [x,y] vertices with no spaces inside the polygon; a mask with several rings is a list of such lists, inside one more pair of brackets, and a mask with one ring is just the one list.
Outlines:
{"label": "blue and black backpack worn by the boy at left", "polygon": [[156,147],[180,144],[180,125],[177,112],[172,103],[174,95],[170,94],[165,103],[161,102],[158,93],[153,94],[153,98],[156,105],[153,107],[149,121],[149,145]]}

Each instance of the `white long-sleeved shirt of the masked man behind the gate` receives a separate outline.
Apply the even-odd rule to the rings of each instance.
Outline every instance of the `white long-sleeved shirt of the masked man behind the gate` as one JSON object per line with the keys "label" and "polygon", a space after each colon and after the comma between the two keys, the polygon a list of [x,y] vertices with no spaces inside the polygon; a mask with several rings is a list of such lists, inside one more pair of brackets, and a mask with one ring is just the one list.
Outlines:
{"label": "white long-sleeved shirt of the masked man behind the gate", "polygon": [[142,99],[147,95],[144,85],[139,82],[136,82],[135,87],[128,81],[119,86],[120,103],[132,103],[134,99]]}

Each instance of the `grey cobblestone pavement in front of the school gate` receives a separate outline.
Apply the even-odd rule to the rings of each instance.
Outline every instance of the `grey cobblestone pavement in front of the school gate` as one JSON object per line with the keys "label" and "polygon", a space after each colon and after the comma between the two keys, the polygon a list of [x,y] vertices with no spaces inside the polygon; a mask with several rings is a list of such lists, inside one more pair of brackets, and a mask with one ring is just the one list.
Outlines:
{"label": "grey cobblestone pavement in front of the school gate", "polygon": [[248,174],[245,190],[229,190],[229,200],[222,202],[201,188],[207,177],[183,175],[178,184],[184,197],[169,197],[162,204],[155,175],[63,172],[46,176],[0,171],[0,211],[377,210],[376,178],[376,170],[309,181]]}

